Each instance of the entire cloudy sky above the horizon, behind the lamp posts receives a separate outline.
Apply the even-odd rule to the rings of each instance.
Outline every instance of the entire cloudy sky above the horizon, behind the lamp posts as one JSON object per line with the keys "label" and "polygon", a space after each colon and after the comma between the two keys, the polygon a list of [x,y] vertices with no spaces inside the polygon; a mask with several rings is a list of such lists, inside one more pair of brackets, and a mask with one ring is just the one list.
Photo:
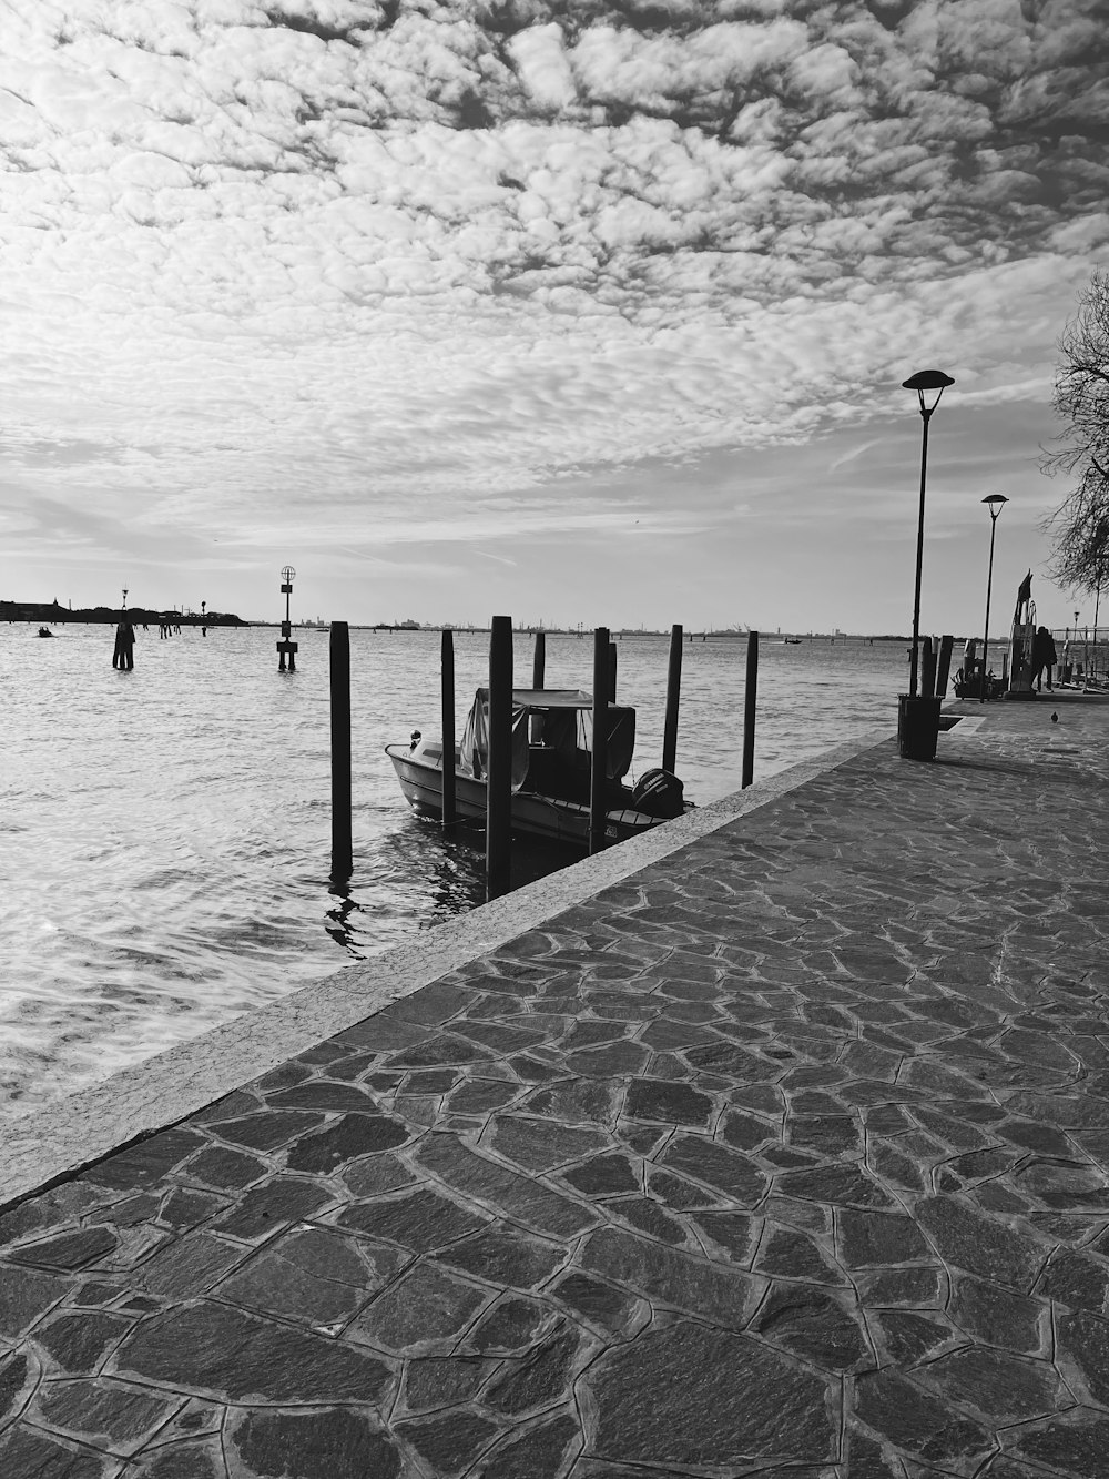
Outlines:
{"label": "entire cloudy sky above the horizon, behind the lamp posts", "polygon": [[[1105,0],[0,0],[0,599],[980,630]],[[1082,620],[1090,620],[1084,614]],[[992,630],[998,630],[992,624]]]}

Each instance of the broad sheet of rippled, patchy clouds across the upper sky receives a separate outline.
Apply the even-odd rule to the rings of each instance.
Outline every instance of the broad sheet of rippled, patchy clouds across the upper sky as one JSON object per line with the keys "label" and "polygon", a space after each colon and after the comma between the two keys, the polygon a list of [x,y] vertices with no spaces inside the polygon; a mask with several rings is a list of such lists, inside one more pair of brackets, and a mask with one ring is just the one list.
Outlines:
{"label": "broad sheet of rippled, patchy clouds across the upper sky", "polygon": [[3,498],[484,540],[880,414],[909,346],[1026,396],[1109,240],[1097,10],[6,0]]}

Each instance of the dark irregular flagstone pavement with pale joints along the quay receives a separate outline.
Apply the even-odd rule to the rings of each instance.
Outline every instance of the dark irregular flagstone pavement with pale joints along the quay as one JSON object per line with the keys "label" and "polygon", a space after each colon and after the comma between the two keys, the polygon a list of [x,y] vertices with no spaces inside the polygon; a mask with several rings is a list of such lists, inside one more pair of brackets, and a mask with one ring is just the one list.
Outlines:
{"label": "dark irregular flagstone pavement with pale joints along the quay", "polygon": [[1109,705],[952,711],[0,1216],[0,1475],[1109,1473]]}

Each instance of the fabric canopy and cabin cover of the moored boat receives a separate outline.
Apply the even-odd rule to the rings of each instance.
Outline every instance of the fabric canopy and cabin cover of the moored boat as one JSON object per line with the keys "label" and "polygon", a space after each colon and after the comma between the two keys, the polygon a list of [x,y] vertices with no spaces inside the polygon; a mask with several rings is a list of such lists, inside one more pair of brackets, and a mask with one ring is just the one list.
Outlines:
{"label": "fabric canopy and cabin cover of the moored boat", "polygon": [[[608,754],[605,771],[611,781],[621,781],[631,768],[636,748],[636,710],[608,705]],[[489,765],[489,691],[475,694],[461,737],[458,768],[463,775],[481,778]],[[569,771],[589,769],[593,753],[593,700],[575,688],[515,688],[512,691],[512,788],[519,791],[528,772],[543,760],[560,757]],[[549,766],[535,763],[535,771]],[[538,774],[535,776],[538,781]]]}

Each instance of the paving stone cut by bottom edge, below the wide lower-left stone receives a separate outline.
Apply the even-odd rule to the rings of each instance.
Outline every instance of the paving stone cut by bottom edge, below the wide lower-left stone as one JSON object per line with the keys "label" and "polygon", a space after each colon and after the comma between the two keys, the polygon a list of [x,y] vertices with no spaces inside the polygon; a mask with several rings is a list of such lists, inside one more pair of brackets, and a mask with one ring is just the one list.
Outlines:
{"label": "paving stone cut by bottom edge, below the wide lower-left stone", "polygon": [[247,1473],[297,1479],[398,1479],[396,1445],[362,1412],[247,1412],[231,1427],[231,1445]]}

